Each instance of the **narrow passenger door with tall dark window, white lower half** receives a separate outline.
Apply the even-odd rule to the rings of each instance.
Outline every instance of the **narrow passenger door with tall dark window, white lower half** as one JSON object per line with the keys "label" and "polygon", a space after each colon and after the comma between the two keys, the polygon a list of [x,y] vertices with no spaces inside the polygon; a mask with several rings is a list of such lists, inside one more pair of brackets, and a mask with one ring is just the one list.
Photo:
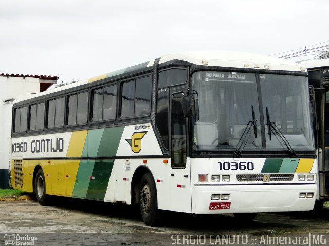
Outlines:
{"label": "narrow passenger door with tall dark window, white lower half", "polygon": [[171,90],[170,139],[170,207],[178,212],[191,213],[191,172],[187,153],[186,118],[182,112],[185,89]]}

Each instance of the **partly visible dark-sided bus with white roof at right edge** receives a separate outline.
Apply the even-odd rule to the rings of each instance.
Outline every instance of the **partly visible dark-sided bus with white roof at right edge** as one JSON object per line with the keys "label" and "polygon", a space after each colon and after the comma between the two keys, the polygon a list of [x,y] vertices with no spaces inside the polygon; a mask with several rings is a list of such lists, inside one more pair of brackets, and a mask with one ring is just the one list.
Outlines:
{"label": "partly visible dark-sided bus with white roof at right edge", "polygon": [[315,209],[329,201],[329,59],[302,63],[308,71],[309,85],[314,88],[316,108],[316,147],[318,149],[319,191]]}

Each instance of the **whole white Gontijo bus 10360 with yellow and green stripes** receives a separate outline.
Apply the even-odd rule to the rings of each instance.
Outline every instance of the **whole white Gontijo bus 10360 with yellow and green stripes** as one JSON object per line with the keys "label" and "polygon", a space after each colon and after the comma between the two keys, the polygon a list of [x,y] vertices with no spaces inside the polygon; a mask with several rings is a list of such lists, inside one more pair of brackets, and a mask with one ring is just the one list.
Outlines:
{"label": "whole white Gontijo bus 10360 with yellow and green stripes", "polygon": [[190,214],[312,210],[317,160],[305,67],[182,52],[17,98],[11,183]]}

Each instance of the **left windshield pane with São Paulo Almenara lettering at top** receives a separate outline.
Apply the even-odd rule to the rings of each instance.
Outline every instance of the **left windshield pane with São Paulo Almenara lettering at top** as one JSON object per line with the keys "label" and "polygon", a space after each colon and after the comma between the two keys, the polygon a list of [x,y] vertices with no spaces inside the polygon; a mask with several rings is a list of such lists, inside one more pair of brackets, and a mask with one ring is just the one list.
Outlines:
{"label": "left windshield pane with S\u00e3o Paulo Almenara lettering at top", "polygon": [[[192,89],[197,92],[194,98],[199,111],[199,119],[194,120],[196,150],[234,150],[245,130],[249,134],[244,149],[262,148],[255,74],[196,72],[192,76]],[[250,127],[253,119],[255,124]]]}

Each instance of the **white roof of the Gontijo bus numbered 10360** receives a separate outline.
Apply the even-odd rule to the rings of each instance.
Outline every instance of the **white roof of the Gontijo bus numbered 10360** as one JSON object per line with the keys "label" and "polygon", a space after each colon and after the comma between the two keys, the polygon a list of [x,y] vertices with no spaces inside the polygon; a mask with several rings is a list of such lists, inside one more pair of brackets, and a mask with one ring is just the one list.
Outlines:
{"label": "white roof of the Gontijo bus numbered 10360", "polygon": [[[250,68],[250,69],[262,69],[264,71],[265,70],[282,70],[282,71],[299,71],[299,72],[305,71],[303,65],[291,61],[287,61],[285,59],[259,55],[259,54],[236,52],[236,51],[190,51],[190,52],[173,53],[173,54],[161,56],[159,60],[159,64],[168,63],[169,61],[174,61],[174,60],[186,61],[187,63],[202,65],[202,66]],[[89,79],[84,79],[76,83],[71,83],[66,86],[54,88],[52,90],[47,90],[37,94],[26,94],[22,96],[17,96],[14,103],[18,103],[19,101],[31,99],[34,97],[52,94],[54,92],[70,89],[87,83],[92,83],[101,79],[110,78],[117,75],[123,75],[126,73],[138,71],[140,69],[152,67],[154,62],[155,59],[132,67],[127,67],[124,69],[105,73]]]}

